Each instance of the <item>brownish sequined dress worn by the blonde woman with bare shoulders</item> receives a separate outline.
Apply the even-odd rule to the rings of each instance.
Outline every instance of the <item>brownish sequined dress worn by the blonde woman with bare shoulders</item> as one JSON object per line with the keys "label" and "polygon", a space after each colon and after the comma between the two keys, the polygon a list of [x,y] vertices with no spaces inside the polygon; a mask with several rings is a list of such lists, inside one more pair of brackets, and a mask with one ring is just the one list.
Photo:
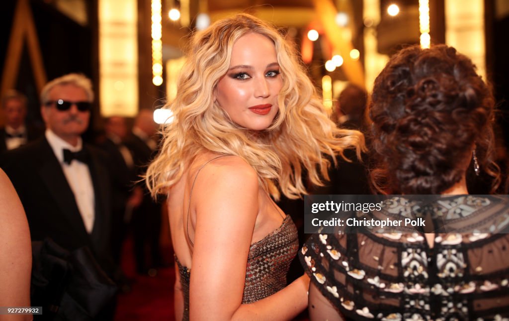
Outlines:
{"label": "brownish sequined dress worn by the blonde woman with bare shoulders", "polygon": [[[286,275],[298,248],[297,228],[290,216],[285,217],[279,228],[252,244],[247,257],[242,303],[256,302],[283,289],[287,285]],[[175,259],[184,293],[183,320],[188,320],[191,271],[182,266],[177,257]]]}

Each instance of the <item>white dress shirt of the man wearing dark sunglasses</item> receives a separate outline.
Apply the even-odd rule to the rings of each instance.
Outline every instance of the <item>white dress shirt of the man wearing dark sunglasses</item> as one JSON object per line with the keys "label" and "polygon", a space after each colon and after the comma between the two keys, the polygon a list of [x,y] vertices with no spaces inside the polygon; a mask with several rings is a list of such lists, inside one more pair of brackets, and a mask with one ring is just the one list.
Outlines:
{"label": "white dress shirt of the man wearing dark sunglasses", "polygon": [[51,129],[46,129],[45,135],[49,146],[53,149],[56,159],[59,160],[60,166],[62,166],[67,182],[71,186],[85,229],[87,232],[92,233],[95,220],[95,196],[89,167],[87,164],[81,163],[76,159],[73,159],[71,164],[64,162],[63,150],[69,149],[72,152],[80,151],[83,143],[81,139],[78,139],[78,144],[72,146],[56,136]]}

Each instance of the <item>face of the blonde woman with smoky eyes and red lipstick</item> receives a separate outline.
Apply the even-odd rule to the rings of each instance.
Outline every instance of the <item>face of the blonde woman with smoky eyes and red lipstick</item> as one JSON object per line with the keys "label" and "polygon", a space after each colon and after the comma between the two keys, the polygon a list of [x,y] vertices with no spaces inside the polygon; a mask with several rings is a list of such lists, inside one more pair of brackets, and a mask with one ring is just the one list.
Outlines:
{"label": "face of the blonde woman with smoky eyes and red lipstick", "polygon": [[265,36],[249,33],[234,43],[230,67],[214,95],[237,125],[263,130],[277,114],[281,86],[274,43]]}

